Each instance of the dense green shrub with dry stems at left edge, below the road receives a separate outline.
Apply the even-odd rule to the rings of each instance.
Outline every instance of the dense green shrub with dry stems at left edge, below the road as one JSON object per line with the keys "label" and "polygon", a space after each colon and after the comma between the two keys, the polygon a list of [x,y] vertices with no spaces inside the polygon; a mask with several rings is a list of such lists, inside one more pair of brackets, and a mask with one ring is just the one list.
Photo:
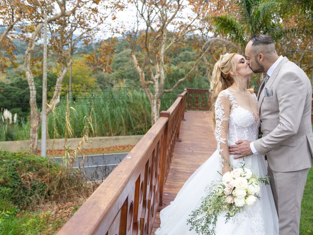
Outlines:
{"label": "dense green shrub with dry stems at left edge, below the road", "polygon": [[49,196],[48,178],[60,166],[46,158],[0,151],[0,200],[8,200],[20,207]]}

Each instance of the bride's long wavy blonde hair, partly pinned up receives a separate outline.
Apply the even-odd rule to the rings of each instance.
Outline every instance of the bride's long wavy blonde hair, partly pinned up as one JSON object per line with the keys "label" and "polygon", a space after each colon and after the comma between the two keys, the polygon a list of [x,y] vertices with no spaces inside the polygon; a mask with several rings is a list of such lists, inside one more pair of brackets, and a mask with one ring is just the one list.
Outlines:
{"label": "bride's long wavy blonde hair, partly pinned up", "polygon": [[[211,87],[211,102],[212,102],[212,115],[213,115],[213,124],[215,126],[215,101],[221,91],[230,87],[234,82],[238,85],[241,84],[241,80],[237,74],[237,63],[233,58],[237,53],[226,53],[221,56],[220,60],[214,65],[214,70],[210,79]],[[234,71],[235,75],[231,75],[230,72]],[[248,83],[248,82],[247,82]],[[246,84],[247,87],[248,84]],[[253,90],[252,90],[253,91]],[[251,92],[249,90],[249,92]]]}

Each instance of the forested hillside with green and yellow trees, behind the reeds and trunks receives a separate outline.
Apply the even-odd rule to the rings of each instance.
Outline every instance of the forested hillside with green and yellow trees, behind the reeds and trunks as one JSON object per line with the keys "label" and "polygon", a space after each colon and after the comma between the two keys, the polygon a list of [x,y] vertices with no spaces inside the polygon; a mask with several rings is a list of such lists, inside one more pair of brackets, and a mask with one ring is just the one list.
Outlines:
{"label": "forested hillside with green and yellow trees, behind the reeds and trunks", "polygon": [[[0,73],[0,107],[17,113],[19,117],[27,119],[29,115],[29,91],[23,68],[23,53],[26,50],[26,44],[20,40],[14,40],[16,47],[17,67],[9,67],[4,73]],[[192,46],[192,45],[191,45]],[[165,88],[171,88],[175,82],[183,77],[190,70],[194,61],[197,59],[196,51],[190,45],[183,45],[166,54],[166,79]],[[110,70],[104,71],[101,66],[89,63],[86,56],[93,53],[98,44],[88,47],[79,47],[74,54],[72,67],[72,90],[73,99],[82,98],[90,94],[91,91],[102,91],[116,87],[142,91],[139,85],[139,76],[134,68],[131,59],[131,48],[122,39],[117,39],[117,43],[112,49]],[[37,103],[41,107],[42,100],[42,51],[39,48],[34,53],[36,62],[33,67],[35,84],[37,87]],[[48,100],[53,95],[55,82],[57,79],[58,67],[55,58],[48,55]],[[187,81],[182,83],[174,92],[180,93],[185,87],[189,88],[208,88],[209,82],[206,75],[206,67],[203,62],[199,63],[196,71],[193,72]],[[68,74],[62,85],[61,100],[66,99],[68,91]],[[85,92],[87,91],[87,92]],[[88,93],[89,91],[89,93]]]}

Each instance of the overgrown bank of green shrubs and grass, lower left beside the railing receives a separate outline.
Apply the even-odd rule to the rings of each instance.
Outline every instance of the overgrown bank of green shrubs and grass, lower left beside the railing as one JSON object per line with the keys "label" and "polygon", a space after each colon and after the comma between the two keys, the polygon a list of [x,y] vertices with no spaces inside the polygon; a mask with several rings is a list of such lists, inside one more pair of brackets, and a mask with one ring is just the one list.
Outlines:
{"label": "overgrown bank of green shrubs and grass, lower left beside the railing", "polygon": [[58,217],[55,211],[46,211],[42,206],[88,198],[93,190],[79,171],[51,164],[39,156],[1,150],[0,235],[55,234],[78,205]]}

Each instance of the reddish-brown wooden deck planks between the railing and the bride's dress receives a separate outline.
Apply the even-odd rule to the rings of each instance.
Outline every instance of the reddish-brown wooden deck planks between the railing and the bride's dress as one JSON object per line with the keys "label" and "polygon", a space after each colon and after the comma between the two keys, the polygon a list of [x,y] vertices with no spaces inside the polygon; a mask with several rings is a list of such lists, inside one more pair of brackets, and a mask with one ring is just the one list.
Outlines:
{"label": "reddish-brown wooden deck planks between the railing and the bride's dress", "polygon": [[152,234],[159,227],[159,211],[169,205],[179,189],[216,150],[211,112],[187,111],[180,126],[181,142],[177,142],[164,188],[164,204],[158,208]]}

